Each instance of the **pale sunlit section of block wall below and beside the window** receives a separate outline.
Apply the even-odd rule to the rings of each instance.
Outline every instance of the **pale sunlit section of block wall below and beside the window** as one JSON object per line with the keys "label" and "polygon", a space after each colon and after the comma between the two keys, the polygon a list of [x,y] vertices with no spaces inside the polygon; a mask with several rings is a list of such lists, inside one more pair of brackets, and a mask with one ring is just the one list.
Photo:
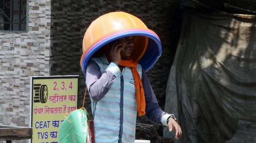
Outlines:
{"label": "pale sunlit section of block wall below and beside the window", "polygon": [[28,32],[0,32],[0,124],[29,126],[30,76],[50,74],[50,8],[28,0]]}

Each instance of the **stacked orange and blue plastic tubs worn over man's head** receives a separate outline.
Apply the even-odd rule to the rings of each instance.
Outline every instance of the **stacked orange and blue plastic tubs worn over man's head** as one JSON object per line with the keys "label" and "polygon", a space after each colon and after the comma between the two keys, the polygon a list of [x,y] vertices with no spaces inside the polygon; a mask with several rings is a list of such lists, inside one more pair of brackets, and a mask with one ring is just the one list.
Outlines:
{"label": "stacked orange and blue plastic tubs worn over man's head", "polygon": [[102,49],[106,44],[126,36],[136,36],[131,58],[139,61],[145,71],[150,69],[162,54],[159,37],[139,18],[124,12],[113,12],[98,17],[85,32],[80,60],[83,74],[95,53],[104,52]]}

